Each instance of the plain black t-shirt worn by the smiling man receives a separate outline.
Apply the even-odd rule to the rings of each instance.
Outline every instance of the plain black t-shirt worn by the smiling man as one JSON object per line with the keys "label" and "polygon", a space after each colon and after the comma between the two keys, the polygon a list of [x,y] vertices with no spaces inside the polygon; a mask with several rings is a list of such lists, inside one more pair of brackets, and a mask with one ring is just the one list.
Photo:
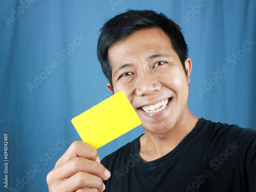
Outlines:
{"label": "plain black t-shirt worn by the smiling man", "polygon": [[200,119],[165,156],[144,162],[140,137],[106,156],[106,192],[256,192],[256,132]]}

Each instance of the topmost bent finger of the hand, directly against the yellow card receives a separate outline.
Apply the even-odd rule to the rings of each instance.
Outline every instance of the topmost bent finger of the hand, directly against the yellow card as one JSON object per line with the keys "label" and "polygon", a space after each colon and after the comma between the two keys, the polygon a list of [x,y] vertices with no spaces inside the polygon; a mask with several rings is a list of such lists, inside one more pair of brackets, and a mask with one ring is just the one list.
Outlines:
{"label": "topmost bent finger of the hand, directly against the yellow card", "polygon": [[83,157],[100,162],[96,148],[83,141],[74,141],[65,152],[65,154],[63,154],[62,157],[60,157],[60,159],[56,162],[55,167],[66,163],[74,157]]}

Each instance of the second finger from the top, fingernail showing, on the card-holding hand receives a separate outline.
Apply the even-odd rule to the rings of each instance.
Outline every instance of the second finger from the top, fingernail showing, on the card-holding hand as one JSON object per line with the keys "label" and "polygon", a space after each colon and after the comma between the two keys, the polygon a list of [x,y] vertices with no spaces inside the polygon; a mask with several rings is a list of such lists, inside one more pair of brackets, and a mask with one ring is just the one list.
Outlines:
{"label": "second finger from the top, fingernail showing, on the card-holding hand", "polygon": [[[65,172],[63,172],[65,170]],[[76,173],[84,172],[100,177],[102,180],[110,178],[111,174],[102,164],[95,161],[76,157],[69,160],[67,163],[54,169],[50,174],[50,180],[65,180]]]}

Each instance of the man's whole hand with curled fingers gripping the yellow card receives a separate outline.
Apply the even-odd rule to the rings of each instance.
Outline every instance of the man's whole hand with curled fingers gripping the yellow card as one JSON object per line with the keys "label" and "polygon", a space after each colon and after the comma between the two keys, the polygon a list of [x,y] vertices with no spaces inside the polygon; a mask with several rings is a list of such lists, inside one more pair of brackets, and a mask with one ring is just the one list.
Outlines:
{"label": "man's whole hand with curled fingers gripping the yellow card", "polygon": [[49,192],[102,192],[111,174],[90,144],[75,141],[47,175]]}

